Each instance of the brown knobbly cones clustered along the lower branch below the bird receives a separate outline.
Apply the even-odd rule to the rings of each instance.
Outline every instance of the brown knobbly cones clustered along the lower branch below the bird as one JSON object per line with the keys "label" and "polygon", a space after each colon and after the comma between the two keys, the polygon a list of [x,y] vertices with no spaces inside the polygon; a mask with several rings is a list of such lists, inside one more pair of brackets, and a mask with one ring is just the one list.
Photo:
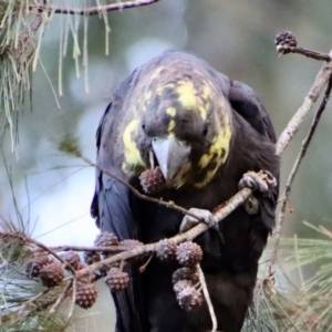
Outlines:
{"label": "brown knobbly cones clustered along the lower branch below the bird", "polygon": [[[118,241],[112,232],[102,232],[94,241],[94,246],[100,248],[116,248],[121,246],[132,249],[141,245],[137,240]],[[186,311],[191,311],[199,307],[203,303],[203,295],[200,290],[197,289],[199,287],[199,278],[196,264],[203,258],[201,248],[190,241],[177,245],[174,240],[164,239],[157,243],[155,253],[160,260],[176,259],[183,266],[173,274],[174,291],[179,305]],[[38,252],[29,259],[25,271],[30,278],[39,278],[44,287],[54,288],[64,281],[65,270],[80,271],[86,266],[100,262],[112,255],[112,250],[85,251],[83,255],[84,262],[82,262],[81,257],[72,250],[59,255],[61,260],[54,259],[48,252]],[[77,279],[75,303],[84,309],[89,309],[95,303],[98,293],[95,284],[95,280],[98,279],[96,276],[105,277],[105,283],[112,292],[127,288],[129,276],[123,271],[123,263],[118,262],[104,263],[98,268],[98,274],[95,271]]]}

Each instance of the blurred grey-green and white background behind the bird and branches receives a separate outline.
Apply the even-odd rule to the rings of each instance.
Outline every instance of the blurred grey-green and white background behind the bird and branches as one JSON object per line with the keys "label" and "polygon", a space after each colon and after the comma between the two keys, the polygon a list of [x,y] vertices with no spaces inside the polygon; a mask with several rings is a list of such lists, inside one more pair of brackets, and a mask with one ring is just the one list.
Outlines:
{"label": "blurred grey-green and white background behind the bird and branches", "polygon": [[[56,3],[80,7],[89,1]],[[279,56],[273,44],[276,34],[291,30],[300,46],[323,52],[329,52],[332,44],[331,0],[160,0],[144,8],[111,12],[107,18],[112,29],[108,56],[104,21],[97,17],[89,19],[89,94],[84,68],[81,66],[77,77],[69,48],[63,60],[64,95],[58,96],[61,108],[56,106],[52,86],[58,91],[60,27],[68,17],[53,18],[40,54],[44,70],[39,63],[33,73],[32,105],[27,98],[20,117],[17,152],[10,151],[10,137],[3,145],[18,207],[24,221],[30,220],[33,237],[49,246],[89,246],[98,232],[90,217],[94,169],[62,154],[56,146],[71,133],[77,137],[84,156],[94,160],[95,131],[110,93],[137,65],[166,49],[194,52],[216,70],[252,86],[279,135],[301,105],[322,63],[294,54]],[[82,18],[77,23],[82,28],[79,34],[82,46]],[[72,39],[69,42],[71,45]],[[311,117],[305,121],[282,157],[282,183],[310,121]],[[293,214],[284,226],[288,236],[315,236],[303,226],[303,220],[331,228],[331,124],[329,105],[292,188]],[[0,214],[7,220],[15,220],[2,160]],[[87,313],[82,311],[82,315],[94,313],[94,319],[80,319],[77,331],[103,326],[111,331],[113,317],[104,310],[104,305],[112,303],[107,291],[103,291],[103,298],[100,307]],[[102,310],[104,314],[97,314]]]}

